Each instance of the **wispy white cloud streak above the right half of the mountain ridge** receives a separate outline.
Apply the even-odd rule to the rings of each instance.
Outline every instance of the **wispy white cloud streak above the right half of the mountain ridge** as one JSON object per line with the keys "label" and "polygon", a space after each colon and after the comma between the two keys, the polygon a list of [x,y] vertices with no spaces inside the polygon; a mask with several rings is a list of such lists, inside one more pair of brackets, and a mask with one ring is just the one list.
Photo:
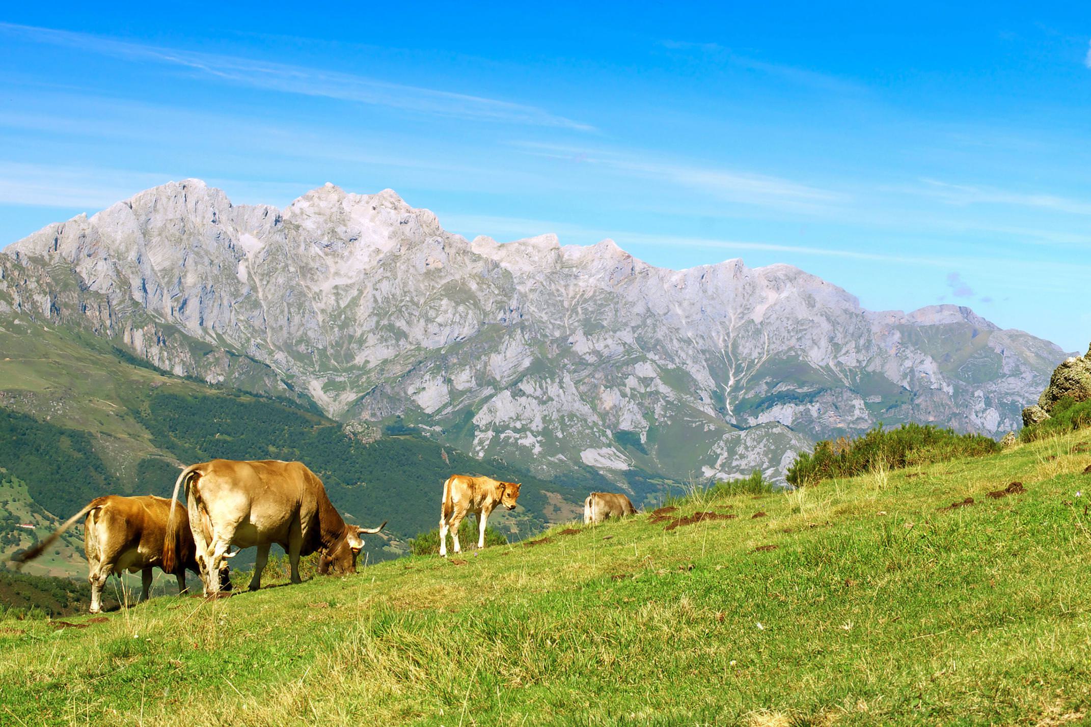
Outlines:
{"label": "wispy white cloud streak above the right half of the mountain ridge", "polygon": [[542,143],[521,143],[516,146],[526,154],[573,163],[594,165],[620,174],[638,175],[703,192],[726,202],[814,211],[848,199],[842,193],[780,177],[644,158],[631,152],[586,149]]}

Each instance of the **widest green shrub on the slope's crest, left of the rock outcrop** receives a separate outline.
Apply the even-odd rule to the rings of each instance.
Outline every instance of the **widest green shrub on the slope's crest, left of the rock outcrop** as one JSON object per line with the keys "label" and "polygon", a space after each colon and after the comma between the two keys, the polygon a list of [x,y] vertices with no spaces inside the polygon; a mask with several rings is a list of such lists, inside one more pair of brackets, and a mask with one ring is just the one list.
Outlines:
{"label": "widest green shrub on the slope's crest, left of the rock outcrop", "polygon": [[819,441],[812,453],[795,459],[788,469],[788,482],[802,487],[876,469],[897,470],[956,457],[981,457],[999,448],[996,440],[984,435],[959,434],[934,424],[902,424],[896,429],[883,429],[879,423],[856,439]]}

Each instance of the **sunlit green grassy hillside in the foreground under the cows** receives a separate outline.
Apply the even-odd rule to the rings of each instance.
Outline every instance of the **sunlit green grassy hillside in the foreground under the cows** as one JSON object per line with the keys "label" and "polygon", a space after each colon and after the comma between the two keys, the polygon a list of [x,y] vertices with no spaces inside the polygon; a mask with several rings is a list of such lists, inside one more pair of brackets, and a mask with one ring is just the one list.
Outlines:
{"label": "sunlit green grassy hillside in the foreground under the cows", "polygon": [[458,559],[69,619],[86,628],[4,622],[0,714],[26,725],[1083,723],[1089,465],[1083,431],[558,526]]}

